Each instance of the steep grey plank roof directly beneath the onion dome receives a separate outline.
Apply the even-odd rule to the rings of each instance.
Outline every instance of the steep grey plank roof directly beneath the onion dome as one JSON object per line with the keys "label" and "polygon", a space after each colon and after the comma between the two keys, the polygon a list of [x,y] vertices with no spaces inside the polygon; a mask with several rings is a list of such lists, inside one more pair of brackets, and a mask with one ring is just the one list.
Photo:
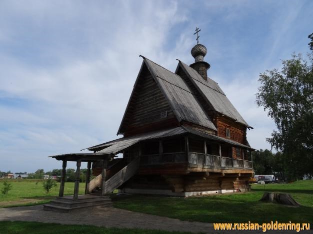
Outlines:
{"label": "steep grey plank roof directly beneath the onion dome", "polygon": [[249,127],[215,81],[208,77],[207,81],[203,80],[197,71],[181,61],[177,65],[176,72],[179,66],[214,111]]}

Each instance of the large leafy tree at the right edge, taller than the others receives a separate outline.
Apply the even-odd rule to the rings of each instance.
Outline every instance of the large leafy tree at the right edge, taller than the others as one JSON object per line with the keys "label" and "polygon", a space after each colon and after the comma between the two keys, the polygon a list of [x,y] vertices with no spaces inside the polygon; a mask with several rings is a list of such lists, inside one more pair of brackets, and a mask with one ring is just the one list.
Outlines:
{"label": "large leafy tree at the right edge, taller than the others", "polygon": [[257,106],[267,110],[276,125],[266,140],[283,152],[289,180],[313,173],[313,52],[308,58],[293,54],[282,60],[280,70],[261,73],[256,94]]}

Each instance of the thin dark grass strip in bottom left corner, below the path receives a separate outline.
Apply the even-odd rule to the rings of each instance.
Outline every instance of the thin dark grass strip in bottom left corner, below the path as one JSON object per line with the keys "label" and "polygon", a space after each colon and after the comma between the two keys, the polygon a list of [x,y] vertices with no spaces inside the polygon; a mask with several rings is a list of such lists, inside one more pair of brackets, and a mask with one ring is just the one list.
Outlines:
{"label": "thin dark grass strip in bottom left corner, below the path", "polygon": [[182,234],[142,229],[102,228],[88,225],[60,225],[37,222],[0,221],[1,233],[5,234]]}

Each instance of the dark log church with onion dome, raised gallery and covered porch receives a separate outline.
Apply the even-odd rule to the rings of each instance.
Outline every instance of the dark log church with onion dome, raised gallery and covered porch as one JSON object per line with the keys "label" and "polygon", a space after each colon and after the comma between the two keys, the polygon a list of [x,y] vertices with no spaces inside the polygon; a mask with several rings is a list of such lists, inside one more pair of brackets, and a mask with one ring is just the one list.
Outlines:
{"label": "dark log church with onion dome, raised gallery and covered porch", "polygon": [[[92,169],[85,194],[195,196],[248,191],[252,177],[246,130],[251,129],[219,85],[207,76],[206,48],[191,49],[194,63],[178,60],[175,72],[143,58],[117,135],[88,147],[93,153],[51,156],[76,161],[73,199],[78,199],[81,162]],[[115,158],[122,154],[122,158]],[[114,157],[115,156],[115,157]]]}

